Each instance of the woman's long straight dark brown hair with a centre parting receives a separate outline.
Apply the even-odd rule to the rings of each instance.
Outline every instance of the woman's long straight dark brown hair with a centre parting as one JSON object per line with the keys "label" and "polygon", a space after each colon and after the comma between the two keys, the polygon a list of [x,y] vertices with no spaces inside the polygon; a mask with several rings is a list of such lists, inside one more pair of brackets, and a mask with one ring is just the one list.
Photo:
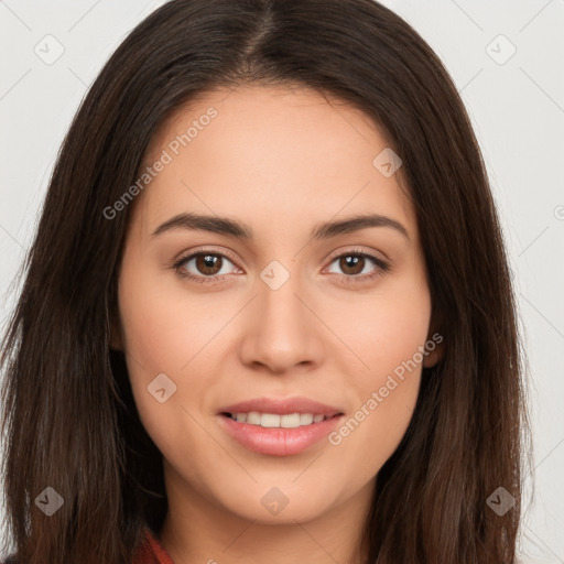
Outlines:
{"label": "woman's long straight dark brown hair with a centre parting", "polygon": [[[130,563],[166,513],[162,455],[110,348],[130,210],[156,129],[218,86],[307,86],[403,161],[446,351],[377,478],[369,563],[512,563],[528,416],[514,294],[470,121],[444,66],[373,0],[172,0],[112,54],[69,128],[2,341],[8,527],[21,564]],[[150,189],[150,188],[149,188]],[[129,206],[131,207],[131,206]],[[52,517],[34,500],[52,487]],[[514,505],[503,514],[488,498]]]}

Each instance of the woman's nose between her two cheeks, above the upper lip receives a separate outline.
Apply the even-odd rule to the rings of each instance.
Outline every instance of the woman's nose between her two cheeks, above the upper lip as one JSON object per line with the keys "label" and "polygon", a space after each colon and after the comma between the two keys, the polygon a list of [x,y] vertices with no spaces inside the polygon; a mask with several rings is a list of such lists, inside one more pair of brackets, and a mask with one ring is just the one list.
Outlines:
{"label": "woman's nose between her two cheeks, above the upper lip", "polygon": [[324,326],[315,315],[315,300],[307,297],[297,278],[290,276],[278,290],[257,281],[258,295],[246,308],[242,327],[240,356],[246,366],[285,373],[322,364]]}

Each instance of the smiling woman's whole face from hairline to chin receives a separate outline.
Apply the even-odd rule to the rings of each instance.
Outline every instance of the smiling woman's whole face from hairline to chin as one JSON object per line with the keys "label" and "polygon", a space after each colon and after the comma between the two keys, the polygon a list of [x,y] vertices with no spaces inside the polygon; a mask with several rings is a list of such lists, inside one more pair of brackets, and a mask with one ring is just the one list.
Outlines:
{"label": "smiling woman's whole face from hairline to chin", "polygon": [[416,217],[388,151],[358,110],[258,86],[206,95],[152,140],[118,346],[171,507],[263,522],[368,508],[432,358]]}

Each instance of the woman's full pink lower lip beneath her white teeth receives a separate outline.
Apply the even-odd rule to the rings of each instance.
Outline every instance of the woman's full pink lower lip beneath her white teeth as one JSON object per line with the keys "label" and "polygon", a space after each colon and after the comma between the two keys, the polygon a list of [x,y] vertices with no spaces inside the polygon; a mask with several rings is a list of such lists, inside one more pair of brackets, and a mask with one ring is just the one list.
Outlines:
{"label": "woman's full pink lower lip beneath her white teeth", "polygon": [[326,437],[343,415],[295,429],[261,427],[218,415],[220,425],[242,446],[259,454],[291,456],[300,454]]}

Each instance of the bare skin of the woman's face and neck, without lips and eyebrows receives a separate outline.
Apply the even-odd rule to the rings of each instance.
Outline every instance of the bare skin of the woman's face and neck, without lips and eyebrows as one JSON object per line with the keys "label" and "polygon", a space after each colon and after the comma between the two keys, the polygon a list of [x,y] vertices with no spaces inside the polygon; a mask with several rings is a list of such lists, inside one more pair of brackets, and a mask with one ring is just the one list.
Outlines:
{"label": "bare skin of the woman's face and neck, without lips and eyebrows", "polygon": [[[276,564],[304,554],[313,564],[360,562],[376,477],[409,425],[421,364],[339,445],[322,440],[299,455],[245,448],[223,431],[218,410],[305,395],[348,419],[413,358],[434,332],[415,212],[399,173],[386,177],[372,165],[388,147],[376,126],[306,89],[208,93],[162,126],[144,164],[209,106],[218,116],[132,204],[119,275],[113,346],[127,354],[142,423],[164,459],[170,511],[159,539],[177,563]],[[182,228],[151,236],[180,213],[238,219],[254,237]],[[318,223],[367,213],[401,223],[409,238],[390,227],[310,237]],[[208,273],[197,283],[171,268],[202,246],[229,253],[212,272],[224,280],[209,283]],[[390,270],[369,258],[347,270],[335,257],[355,249]],[[290,274],[278,290],[260,278],[273,260]],[[194,259],[184,268],[206,276]],[[159,373],[176,386],[164,403],[148,392]],[[261,503],[273,487],[288,499],[275,516]]]}

